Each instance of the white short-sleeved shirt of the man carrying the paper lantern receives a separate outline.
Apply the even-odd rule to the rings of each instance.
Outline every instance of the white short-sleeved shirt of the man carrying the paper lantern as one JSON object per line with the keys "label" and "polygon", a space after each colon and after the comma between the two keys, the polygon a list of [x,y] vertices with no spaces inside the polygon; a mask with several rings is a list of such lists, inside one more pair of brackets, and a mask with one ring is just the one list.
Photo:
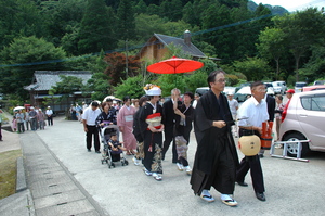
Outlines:
{"label": "white short-sleeved shirt of the man carrying the paper lantern", "polygon": [[247,99],[238,109],[238,126],[262,127],[262,123],[269,119],[268,105],[264,99],[259,103],[253,97]]}

